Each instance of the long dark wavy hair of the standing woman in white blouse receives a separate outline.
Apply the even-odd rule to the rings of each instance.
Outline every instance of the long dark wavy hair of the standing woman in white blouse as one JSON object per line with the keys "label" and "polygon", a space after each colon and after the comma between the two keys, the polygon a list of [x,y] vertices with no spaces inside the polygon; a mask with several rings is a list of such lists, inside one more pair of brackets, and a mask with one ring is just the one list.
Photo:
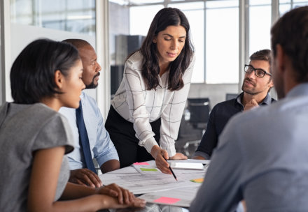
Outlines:
{"label": "long dark wavy hair of the standing woman in white blouse", "polygon": [[148,35],[142,43],[140,52],[144,56],[142,63],[142,76],[147,85],[147,89],[155,89],[159,85],[158,75],[160,64],[158,61],[158,49],[153,43],[153,38],[158,36],[160,31],[169,26],[182,26],[186,30],[186,40],[181,54],[170,63],[170,73],[168,79],[168,89],[177,91],[183,88],[183,75],[190,65],[193,56],[193,45],[190,41],[190,26],[186,16],[177,8],[163,8],[154,17]]}

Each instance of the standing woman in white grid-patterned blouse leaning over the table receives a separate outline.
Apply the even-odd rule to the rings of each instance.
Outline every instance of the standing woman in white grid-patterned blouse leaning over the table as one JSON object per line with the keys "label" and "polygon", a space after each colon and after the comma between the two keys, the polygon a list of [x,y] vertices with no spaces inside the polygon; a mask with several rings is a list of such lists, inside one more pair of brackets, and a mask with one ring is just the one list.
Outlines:
{"label": "standing woman in white grid-patterned blouse leaning over the table", "polygon": [[176,139],[193,72],[193,45],[186,16],[163,8],[154,17],[144,43],[125,62],[124,76],[106,120],[121,167],[153,160],[171,174],[166,159]]}

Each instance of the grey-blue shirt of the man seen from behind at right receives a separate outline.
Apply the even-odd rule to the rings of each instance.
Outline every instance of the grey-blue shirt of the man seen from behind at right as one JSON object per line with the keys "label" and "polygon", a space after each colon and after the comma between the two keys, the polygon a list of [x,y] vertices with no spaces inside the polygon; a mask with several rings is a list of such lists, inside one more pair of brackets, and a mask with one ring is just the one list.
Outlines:
{"label": "grey-blue shirt of the man seen from behind at right", "polygon": [[308,210],[308,83],[230,119],[190,211]]}

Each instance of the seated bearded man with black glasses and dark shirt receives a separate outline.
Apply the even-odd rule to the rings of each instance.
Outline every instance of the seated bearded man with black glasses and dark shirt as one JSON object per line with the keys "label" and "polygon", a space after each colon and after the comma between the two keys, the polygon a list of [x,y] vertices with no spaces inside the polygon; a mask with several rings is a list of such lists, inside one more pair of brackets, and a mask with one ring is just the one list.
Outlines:
{"label": "seated bearded man with black glasses and dark shirt", "polygon": [[207,130],[193,155],[194,159],[209,160],[211,158],[218,143],[218,136],[232,116],[252,107],[269,105],[276,101],[269,96],[269,90],[274,86],[270,73],[272,59],[270,50],[255,52],[249,59],[250,63],[244,68],[245,76],[241,86],[243,92],[237,98],[218,103],[212,109]]}

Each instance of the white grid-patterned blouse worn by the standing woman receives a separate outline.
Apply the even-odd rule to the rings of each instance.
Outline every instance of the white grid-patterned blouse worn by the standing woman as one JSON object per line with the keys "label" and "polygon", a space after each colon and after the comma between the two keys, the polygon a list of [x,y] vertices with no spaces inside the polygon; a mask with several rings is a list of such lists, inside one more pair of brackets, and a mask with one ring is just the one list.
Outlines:
{"label": "white grid-patterned blouse worn by the standing woman", "polygon": [[111,100],[111,105],[120,116],[134,123],[139,145],[144,146],[149,153],[154,145],[158,145],[153,137],[155,134],[150,123],[161,118],[160,147],[167,150],[170,157],[175,155],[174,140],[178,136],[194,63],[195,57],[183,75],[184,86],[181,90],[167,89],[168,70],[161,77],[158,76],[160,85],[148,91],[141,75],[141,53],[136,52],[127,59],[123,80],[115,97]]}

